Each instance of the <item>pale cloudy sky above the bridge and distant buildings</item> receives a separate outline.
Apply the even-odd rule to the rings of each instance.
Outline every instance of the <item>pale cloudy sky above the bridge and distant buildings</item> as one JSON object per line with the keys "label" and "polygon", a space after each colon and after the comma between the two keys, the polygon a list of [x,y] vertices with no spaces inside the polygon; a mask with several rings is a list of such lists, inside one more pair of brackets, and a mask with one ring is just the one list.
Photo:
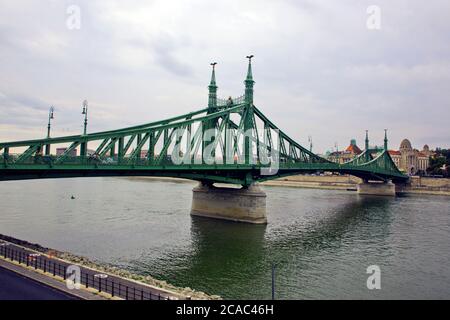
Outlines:
{"label": "pale cloudy sky above the bridge and distant buildings", "polygon": [[219,96],[239,96],[254,54],[255,104],[317,152],[363,145],[365,129],[381,144],[384,128],[395,149],[450,147],[449,12],[448,0],[0,0],[0,141],[45,136],[50,105],[53,135],[81,132],[84,99],[91,132],[203,108],[212,61]]}

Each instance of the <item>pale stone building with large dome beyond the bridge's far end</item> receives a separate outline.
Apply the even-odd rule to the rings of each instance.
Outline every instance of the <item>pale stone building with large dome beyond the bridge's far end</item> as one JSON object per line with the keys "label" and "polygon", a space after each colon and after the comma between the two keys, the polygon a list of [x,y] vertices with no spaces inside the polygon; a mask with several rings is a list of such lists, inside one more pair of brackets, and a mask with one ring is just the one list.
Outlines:
{"label": "pale stone building with large dome beyond the bridge's far end", "polygon": [[403,139],[399,150],[389,150],[389,154],[397,168],[406,174],[416,175],[426,172],[433,152],[428,145],[424,145],[422,151],[414,149],[411,141]]}

